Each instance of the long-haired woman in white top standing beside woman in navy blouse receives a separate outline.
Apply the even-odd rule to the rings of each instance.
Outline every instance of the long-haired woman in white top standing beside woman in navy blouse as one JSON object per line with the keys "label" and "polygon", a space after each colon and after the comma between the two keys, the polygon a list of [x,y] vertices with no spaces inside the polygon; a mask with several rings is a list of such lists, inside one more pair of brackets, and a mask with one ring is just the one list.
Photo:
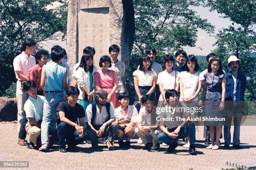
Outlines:
{"label": "long-haired woman in white top standing beside woman in navy blouse", "polygon": [[[182,71],[179,74],[180,83],[180,97],[179,101],[182,101],[183,107],[197,107],[198,95],[202,87],[202,81],[204,77],[200,74],[199,65],[195,55],[188,55],[185,63],[186,71]],[[188,113],[190,117],[196,117],[198,113]],[[189,148],[188,143],[183,145],[185,148]]]}

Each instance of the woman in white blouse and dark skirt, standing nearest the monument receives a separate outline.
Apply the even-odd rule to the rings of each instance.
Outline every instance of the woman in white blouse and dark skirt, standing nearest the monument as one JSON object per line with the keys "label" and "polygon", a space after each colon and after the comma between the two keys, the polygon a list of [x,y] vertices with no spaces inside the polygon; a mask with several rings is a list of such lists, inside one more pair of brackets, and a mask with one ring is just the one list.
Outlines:
{"label": "woman in white blouse and dark skirt, standing nearest the monument", "polygon": [[156,72],[151,70],[151,60],[148,55],[144,54],[139,59],[139,69],[133,72],[134,88],[136,91],[135,102],[139,101],[136,105],[138,112],[141,109],[141,97],[154,93],[156,88]]}

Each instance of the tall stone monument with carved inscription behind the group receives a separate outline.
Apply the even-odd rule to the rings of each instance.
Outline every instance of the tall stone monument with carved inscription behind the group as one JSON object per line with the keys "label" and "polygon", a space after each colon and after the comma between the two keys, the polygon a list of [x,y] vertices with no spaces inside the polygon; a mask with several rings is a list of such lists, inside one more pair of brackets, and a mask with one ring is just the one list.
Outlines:
{"label": "tall stone monument with carved inscription behind the group", "polygon": [[132,0],[69,0],[67,55],[71,68],[80,62],[86,46],[95,48],[94,64],[99,67],[108,47],[120,47],[118,60],[129,65],[135,34]]}

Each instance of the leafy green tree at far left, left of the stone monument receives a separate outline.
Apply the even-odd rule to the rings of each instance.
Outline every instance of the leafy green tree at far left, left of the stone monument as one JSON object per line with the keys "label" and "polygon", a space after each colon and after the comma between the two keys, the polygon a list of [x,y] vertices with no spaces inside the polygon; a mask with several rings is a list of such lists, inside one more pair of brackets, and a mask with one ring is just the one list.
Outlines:
{"label": "leafy green tree at far left, left of the stone monument", "polygon": [[67,31],[63,24],[67,19],[59,8],[46,8],[54,1],[0,0],[0,95],[15,81],[13,59],[20,54],[23,40],[57,40],[61,32]]}

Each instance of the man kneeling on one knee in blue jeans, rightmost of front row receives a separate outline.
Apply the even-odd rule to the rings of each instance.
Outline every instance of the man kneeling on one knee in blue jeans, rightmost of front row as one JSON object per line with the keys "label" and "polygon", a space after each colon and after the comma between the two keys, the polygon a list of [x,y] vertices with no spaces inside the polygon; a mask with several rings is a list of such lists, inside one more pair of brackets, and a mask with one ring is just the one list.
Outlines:
{"label": "man kneeling on one knee in blue jeans, rightmost of front row", "polygon": [[[178,92],[176,90],[174,89],[166,90],[165,98],[168,101],[169,107],[172,107],[172,108],[177,107],[177,102],[179,101],[179,97],[178,97]],[[160,128],[162,132],[157,136],[159,141],[169,145],[169,148],[167,148],[166,152],[172,152],[178,146],[178,143],[177,143],[178,139],[184,139],[189,136],[189,142],[190,142],[189,154],[196,155],[197,153],[195,152],[195,145],[194,145],[195,125],[187,125],[188,123],[187,120],[181,123],[175,121],[176,120],[175,117],[183,117],[183,114],[182,112],[177,112],[177,111],[172,112],[172,110],[174,109],[169,109],[168,112],[161,112],[160,118],[166,119],[169,117],[174,117],[174,121],[160,120]],[[186,117],[186,115],[184,117]]]}

